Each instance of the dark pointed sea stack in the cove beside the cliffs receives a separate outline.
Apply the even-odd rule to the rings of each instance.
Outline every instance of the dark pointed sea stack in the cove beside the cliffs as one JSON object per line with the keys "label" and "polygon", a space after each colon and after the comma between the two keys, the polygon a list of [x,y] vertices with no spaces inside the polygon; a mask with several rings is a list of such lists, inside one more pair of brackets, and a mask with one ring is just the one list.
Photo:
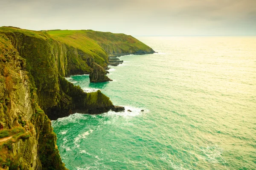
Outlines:
{"label": "dark pointed sea stack in the cove beside the cliffs", "polygon": [[108,82],[112,81],[110,78],[106,76],[106,71],[105,69],[98,65],[95,62],[91,63],[91,73],[89,75],[90,77],[90,82]]}

